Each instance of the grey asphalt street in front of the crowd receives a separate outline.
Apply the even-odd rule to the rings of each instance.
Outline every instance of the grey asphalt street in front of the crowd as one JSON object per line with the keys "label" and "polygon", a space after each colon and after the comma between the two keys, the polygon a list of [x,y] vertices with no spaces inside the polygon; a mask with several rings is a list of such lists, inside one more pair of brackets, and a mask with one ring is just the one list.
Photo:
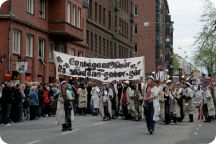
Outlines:
{"label": "grey asphalt street in front of the crowd", "polygon": [[50,117],[1,125],[0,135],[8,144],[208,144],[216,136],[216,122],[158,122],[155,134],[149,135],[144,120],[103,122],[97,116],[77,116],[73,131],[61,132],[61,126]]}

